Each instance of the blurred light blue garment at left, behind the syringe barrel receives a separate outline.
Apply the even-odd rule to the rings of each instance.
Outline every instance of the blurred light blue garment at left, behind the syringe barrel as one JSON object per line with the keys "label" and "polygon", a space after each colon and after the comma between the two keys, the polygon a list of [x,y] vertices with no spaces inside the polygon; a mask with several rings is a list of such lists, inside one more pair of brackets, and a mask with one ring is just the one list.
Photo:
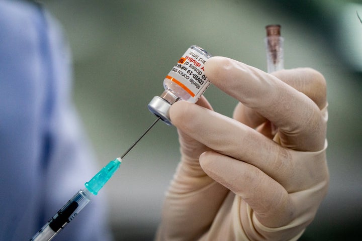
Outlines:
{"label": "blurred light blue garment at left, behind the syringe barrel", "polygon": [[[0,0],[0,240],[29,240],[98,168],[71,102],[69,51],[39,5]],[[56,240],[110,240],[96,196]]]}

